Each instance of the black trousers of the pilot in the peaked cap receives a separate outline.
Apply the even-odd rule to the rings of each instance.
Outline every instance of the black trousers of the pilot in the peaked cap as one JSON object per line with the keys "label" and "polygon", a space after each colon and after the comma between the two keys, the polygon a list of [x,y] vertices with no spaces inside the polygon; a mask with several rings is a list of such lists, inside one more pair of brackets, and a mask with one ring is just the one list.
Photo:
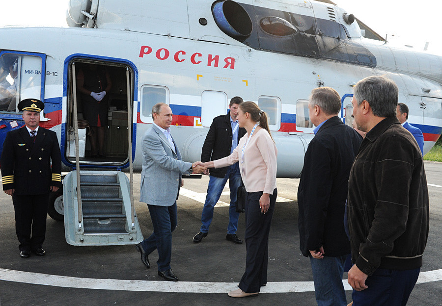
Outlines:
{"label": "black trousers of the pilot in the peaked cap", "polygon": [[15,232],[20,242],[20,251],[41,248],[45,241],[48,202],[49,193],[30,196],[12,195]]}

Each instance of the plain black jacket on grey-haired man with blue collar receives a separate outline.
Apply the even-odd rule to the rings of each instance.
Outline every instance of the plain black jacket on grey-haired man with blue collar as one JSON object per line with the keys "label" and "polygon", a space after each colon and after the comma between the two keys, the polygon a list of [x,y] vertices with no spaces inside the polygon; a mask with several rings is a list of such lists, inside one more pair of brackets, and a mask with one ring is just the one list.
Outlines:
{"label": "plain black jacket on grey-haired man with blue collar", "polygon": [[362,137],[336,116],[310,141],[298,187],[300,249],[324,247],[326,256],[350,254],[344,230],[348,177]]}

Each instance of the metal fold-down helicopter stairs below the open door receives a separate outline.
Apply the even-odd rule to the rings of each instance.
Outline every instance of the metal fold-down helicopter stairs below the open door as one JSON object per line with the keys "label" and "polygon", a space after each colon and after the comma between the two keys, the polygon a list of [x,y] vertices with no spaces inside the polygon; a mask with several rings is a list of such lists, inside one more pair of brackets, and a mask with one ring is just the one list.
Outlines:
{"label": "metal fold-down helicopter stairs below the open door", "polygon": [[63,180],[67,243],[123,245],[142,241],[135,211],[132,220],[130,184],[124,173],[81,170],[80,192],[77,186],[77,171],[71,171]]}

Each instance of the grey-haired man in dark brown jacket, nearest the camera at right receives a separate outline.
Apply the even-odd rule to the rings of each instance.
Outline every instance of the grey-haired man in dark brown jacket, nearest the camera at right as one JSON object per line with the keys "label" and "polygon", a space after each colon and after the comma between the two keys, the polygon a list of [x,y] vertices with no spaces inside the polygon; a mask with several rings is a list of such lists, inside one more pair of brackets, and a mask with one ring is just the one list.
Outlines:
{"label": "grey-haired man in dark brown jacket, nearest the camera at right", "polygon": [[396,118],[398,88],[393,81],[367,77],[354,93],[353,116],[367,134],[349,179],[353,305],[406,305],[428,238],[422,154]]}

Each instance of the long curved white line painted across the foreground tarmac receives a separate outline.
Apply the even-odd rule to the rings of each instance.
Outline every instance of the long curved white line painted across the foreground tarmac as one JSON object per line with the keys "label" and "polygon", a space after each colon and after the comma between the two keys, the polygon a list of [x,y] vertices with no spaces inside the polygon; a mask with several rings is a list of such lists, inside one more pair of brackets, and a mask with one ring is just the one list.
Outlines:
{"label": "long curved white line painted across the foreground tarmac", "polygon": [[[164,280],[108,280],[87,279],[0,269],[0,280],[64,288],[83,288],[119,291],[151,291],[175,293],[227,293],[237,289],[237,282],[164,281]],[[421,272],[417,283],[442,280],[442,269]],[[345,290],[352,288],[342,280]],[[261,293],[289,293],[315,291],[313,281],[275,281],[261,287]]]}

